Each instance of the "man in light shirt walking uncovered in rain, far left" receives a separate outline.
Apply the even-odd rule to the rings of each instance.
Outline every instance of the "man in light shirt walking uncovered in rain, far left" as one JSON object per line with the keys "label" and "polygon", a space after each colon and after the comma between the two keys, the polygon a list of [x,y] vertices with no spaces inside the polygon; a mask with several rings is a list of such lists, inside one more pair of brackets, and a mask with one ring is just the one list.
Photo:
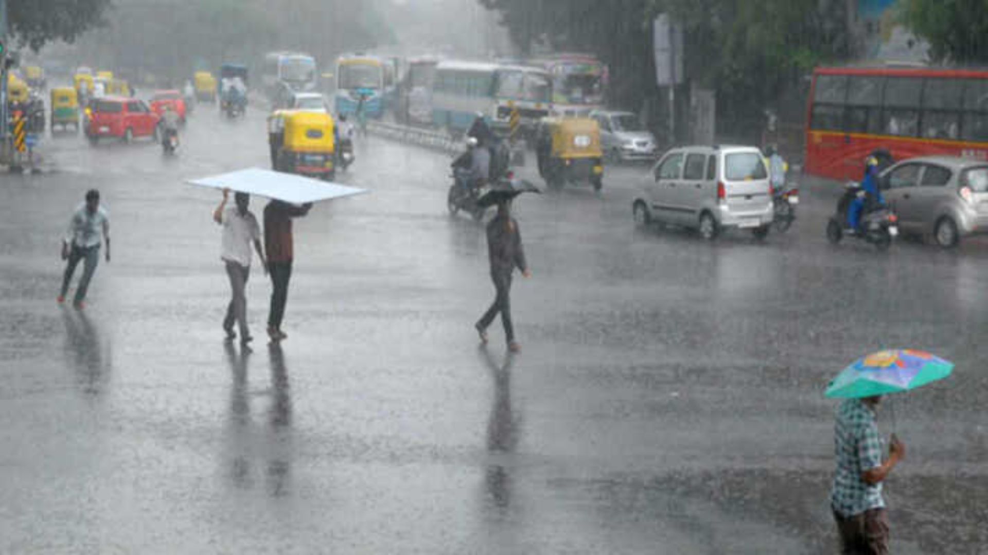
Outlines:
{"label": "man in light shirt walking uncovered in rain, far left", "polygon": [[110,215],[103,206],[100,206],[100,192],[90,189],[86,192],[86,201],[72,212],[68,233],[62,239],[61,258],[68,263],[62,276],[61,291],[58,293],[59,303],[65,302],[65,294],[68,292],[68,284],[72,280],[72,274],[75,273],[75,267],[79,265],[79,261],[83,261],[82,278],[79,279],[75,289],[75,299],[72,304],[79,309],[85,308],[89,281],[100,263],[102,242],[107,244],[107,264],[110,264]]}

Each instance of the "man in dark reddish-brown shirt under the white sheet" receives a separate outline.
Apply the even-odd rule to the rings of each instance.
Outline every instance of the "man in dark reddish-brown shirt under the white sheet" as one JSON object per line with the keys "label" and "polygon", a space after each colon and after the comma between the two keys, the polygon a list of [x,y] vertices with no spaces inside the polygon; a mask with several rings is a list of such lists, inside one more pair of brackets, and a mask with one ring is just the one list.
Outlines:
{"label": "man in dark reddish-brown shirt under the white sheet", "polygon": [[271,309],[268,312],[268,337],[278,343],[287,339],[282,331],[285,304],[288,302],[288,280],[291,278],[292,249],[291,218],[301,217],[312,208],[307,202],[295,206],[273,199],[264,207],[264,252],[268,255],[268,275],[273,285]]}

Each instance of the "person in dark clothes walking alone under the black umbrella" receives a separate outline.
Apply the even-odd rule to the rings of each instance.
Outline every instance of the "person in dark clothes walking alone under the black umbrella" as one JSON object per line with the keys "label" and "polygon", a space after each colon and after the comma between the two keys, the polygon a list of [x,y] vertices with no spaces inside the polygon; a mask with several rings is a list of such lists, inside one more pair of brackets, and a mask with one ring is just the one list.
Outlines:
{"label": "person in dark clothes walking alone under the black umbrella", "polygon": [[511,217],[510,200],[498,203],[497,215],[487,224],[487,255],[490,260],[491,280],[494,281],[497,295],[474,327],[480,335],[480,342],[486,344],[487,327],[500,313],[508,350],[517,353],[521,348],[515,341],[515,328],[511,321],[511,278],[515,268],[521,270],[526,278],[532,277],[532,274],[525,260],[518,222]]}

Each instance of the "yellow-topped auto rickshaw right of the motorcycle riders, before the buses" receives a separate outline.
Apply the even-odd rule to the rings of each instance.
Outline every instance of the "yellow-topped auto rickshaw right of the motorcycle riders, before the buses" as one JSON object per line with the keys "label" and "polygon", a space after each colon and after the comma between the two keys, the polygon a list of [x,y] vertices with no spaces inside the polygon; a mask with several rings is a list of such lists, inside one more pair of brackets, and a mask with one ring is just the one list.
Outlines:
{"label": "yellow-topped auto rickshaw right of the motorcycle riders, before the buses", "polygon": [[604,187],[604,151],[596,119],[543,118],[535,131],[538,174],[550,189],[567,183]]}

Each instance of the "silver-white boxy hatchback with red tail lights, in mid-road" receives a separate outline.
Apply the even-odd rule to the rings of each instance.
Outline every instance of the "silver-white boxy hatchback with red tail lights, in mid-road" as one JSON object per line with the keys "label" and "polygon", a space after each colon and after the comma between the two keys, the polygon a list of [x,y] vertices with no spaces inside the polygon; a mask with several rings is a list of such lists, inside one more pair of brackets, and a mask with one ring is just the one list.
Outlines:
{"label": "silver-white boxy hatchback with red tail lights, in mid-road", "polygon": [[772,185],[753,146],[687,146],[668,151],[632,202],[639,225],[653,221],[700,230],[713,239],[726,228],[769,234]]}

